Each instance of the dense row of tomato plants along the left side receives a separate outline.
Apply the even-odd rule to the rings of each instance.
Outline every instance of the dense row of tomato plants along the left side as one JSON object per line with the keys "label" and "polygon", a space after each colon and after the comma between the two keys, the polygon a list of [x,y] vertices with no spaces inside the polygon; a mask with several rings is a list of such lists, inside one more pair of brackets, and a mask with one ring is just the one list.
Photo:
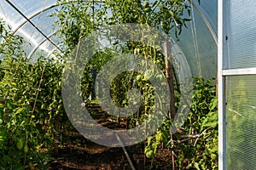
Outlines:
{"label": "dense row of tomato plants along the left side", "polygon": [[[59,139],[54,131],[61,135],[67,122],[61,103],[62,64],[44,57],[30,62],[22,48],[26,42],[1,25],[0,167],[42,169]],[[62,124],[57,127],[58,121]],[[48,151],[41,153],[44,148]]]}

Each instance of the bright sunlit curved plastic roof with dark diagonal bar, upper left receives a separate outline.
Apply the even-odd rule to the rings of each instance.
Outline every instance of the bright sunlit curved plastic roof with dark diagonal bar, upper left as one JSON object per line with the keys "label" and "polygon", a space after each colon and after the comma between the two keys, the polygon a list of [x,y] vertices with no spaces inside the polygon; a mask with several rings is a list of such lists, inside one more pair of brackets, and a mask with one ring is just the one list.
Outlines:
{"label": "bright sunlit curved plastic roof with dark diagonal bar, upper left", "polygon": [[[48,37],[52,37],[57,29],[55,28],[54,30],[56,17],[49,17],[49,14],[53,13],[56,8],[59,8],[58,6],[54,6],[55,3],[55,0],[22,2],[14,0],[10,3],[6,1],[0,2],[0,17],[11,26],[15,33],[24,37],[26,42],[28,42],[24,44],[26,56],[29,57],[34,49],[43,50],[45,54],[49,54],[50,51],[53,50],[53,48],[49,48],[49,46],[46,47],[42,45],[42,43],[44,43]],[[12,4],[15,7],[13,7]],[[20,10],[21,14],[18,10]],[[26,15],[26,18],[31,20],[34,26],[32,26],[22,14]],[[55,38],[55,42],[52,43],[56,44],[59,41],[60,39]]]}

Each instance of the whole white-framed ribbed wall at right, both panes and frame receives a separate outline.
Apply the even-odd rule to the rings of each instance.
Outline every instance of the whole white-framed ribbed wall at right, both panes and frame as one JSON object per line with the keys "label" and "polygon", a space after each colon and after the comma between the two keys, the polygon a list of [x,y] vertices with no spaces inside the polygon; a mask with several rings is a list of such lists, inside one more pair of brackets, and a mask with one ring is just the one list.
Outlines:
{"label": "whole white-framed ribbed wall at right, both panes and frame", "polygon": [[219,2],[219,167],[256,169],[256,1]]}

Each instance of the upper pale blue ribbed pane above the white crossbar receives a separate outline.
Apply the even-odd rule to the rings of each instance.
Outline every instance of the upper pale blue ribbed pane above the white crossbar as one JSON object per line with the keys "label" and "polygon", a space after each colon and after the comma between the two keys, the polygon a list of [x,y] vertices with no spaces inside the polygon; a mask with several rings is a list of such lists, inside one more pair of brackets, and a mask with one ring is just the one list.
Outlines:
{"label": "upper pale blue ribbed pane above the white crossbar", "polygon": [[229,31],[228,57],[224,69],[250,68],[256,66],[256,1],[227,1],[226,15]]}

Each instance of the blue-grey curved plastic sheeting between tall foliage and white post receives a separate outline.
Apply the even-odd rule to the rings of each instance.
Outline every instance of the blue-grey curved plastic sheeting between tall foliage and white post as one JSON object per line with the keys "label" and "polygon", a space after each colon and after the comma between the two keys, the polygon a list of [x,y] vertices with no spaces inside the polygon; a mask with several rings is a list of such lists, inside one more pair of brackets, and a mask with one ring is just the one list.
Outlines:
{"label": "blue-grey curved plastic sheeting between tall foliage and white post", "polygon": [[217,0],[194,1],[192,21],[183,28],[177,45],[188,59],[193,76],[217,75]]}

